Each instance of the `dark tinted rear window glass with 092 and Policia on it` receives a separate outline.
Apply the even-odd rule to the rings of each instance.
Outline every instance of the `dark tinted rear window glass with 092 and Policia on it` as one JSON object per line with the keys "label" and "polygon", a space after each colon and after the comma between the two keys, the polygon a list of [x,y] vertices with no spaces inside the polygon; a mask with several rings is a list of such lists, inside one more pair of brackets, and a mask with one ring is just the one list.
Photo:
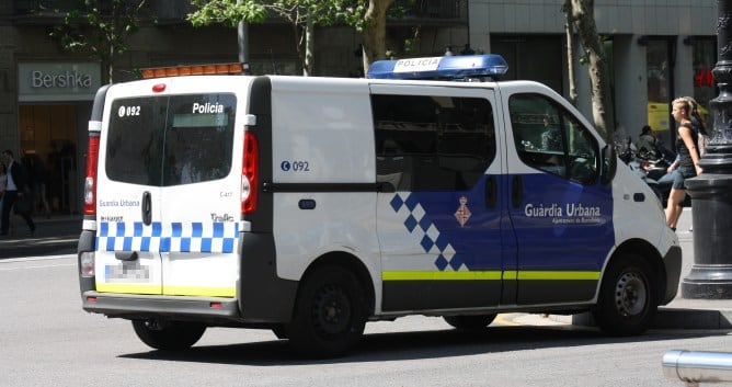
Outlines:
{"label": "dark tinted rear window glass with 092 and Policia on it", "polygon": [[115,100],[106,175],[152,186],[222,179],[231,171],[235,114],[230,93]]}

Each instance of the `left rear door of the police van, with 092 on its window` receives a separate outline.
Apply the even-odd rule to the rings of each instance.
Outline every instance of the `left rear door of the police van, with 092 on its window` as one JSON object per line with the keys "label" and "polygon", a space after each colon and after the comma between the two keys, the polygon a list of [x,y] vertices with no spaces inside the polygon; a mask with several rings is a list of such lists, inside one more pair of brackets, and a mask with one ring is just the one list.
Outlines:
{"label": "left rear door of the police van, with 092 on its window", "polygon": [[100,139],[96,291],[161,294],[160,181],[167,98],[150,82],[110,88]]}

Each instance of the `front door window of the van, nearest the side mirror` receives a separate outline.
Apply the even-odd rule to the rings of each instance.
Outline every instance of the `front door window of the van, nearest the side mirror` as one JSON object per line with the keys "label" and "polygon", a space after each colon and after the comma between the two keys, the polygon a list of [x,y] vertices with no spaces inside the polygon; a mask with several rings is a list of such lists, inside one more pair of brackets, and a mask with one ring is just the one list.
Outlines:
{"label": "front door window of the van, nearest the side mirror", "polygon": [[508,110],[522,161],[576,183],[597,181],[597,140],[573,115],[538,94],[512,95]]}

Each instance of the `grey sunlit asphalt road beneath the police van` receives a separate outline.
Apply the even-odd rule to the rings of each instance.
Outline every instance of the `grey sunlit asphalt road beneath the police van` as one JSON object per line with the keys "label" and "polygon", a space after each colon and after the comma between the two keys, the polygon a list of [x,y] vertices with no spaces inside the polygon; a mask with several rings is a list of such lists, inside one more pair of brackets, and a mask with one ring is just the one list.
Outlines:
{"label": "grey sunlit asphalt road beneath the police van", "polygon": [[537,315],[459,332],[441,318],[369,322],[353,353],[294,355],[266,330],[214,328],[190,351],[155,351],[125,320],[81,309],[73,255],[0,260],[0,386],[684,386],[670,350],[729,351],[728,330],[608,338]]}

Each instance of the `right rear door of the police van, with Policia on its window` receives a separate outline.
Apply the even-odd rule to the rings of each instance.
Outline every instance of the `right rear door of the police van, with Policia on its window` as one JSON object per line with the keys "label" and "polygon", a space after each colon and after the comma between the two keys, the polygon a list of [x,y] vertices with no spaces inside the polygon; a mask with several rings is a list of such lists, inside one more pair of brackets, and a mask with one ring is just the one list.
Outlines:
{"label": "right rear door of the police van, with Policia on its window", "polygon": [[[218,89],[210,81],[206,86]],[[232,92],[169,100],[160,192],[161,218],[170,228],[170,244],[161,250],[165,295],[236,295],[243,152],[236,113]]]}

